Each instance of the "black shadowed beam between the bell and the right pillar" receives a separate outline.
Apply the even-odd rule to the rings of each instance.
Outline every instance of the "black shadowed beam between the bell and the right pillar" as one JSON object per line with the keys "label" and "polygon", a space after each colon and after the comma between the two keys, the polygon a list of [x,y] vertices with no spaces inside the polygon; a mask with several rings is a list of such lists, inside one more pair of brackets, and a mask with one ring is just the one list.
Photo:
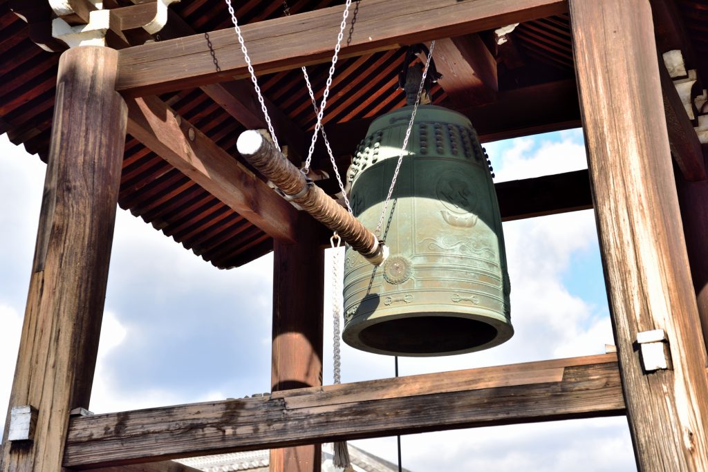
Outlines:
{"label": "black shadowed beam between the bell and the right pillar", "polygon": [[588,170],[494,184],[502,221],[593,207]]}

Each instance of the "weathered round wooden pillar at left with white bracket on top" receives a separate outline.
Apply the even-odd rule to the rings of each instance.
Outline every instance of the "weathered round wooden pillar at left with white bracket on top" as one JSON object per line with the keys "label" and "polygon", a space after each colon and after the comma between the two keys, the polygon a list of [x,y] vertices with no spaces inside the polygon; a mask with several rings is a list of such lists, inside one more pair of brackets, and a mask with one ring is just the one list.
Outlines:
{"label": "weathered round wooden pillar at left with white bracket on top", "polygon": [[[4,472],[61,470],[69,410],[89,407],[127,108],[118,55],[62,54],[35,258],[10,406],[38,409],[33,442],[3,444]],[[10,422],[8,415],[6,434]]]}

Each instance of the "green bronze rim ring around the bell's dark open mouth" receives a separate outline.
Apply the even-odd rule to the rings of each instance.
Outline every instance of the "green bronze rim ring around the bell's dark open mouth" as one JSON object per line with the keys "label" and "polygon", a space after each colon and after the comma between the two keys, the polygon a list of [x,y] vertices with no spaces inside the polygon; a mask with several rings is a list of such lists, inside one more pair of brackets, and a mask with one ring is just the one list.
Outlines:
{"label": "green bronze rim ring around the bell's dark open mouth", "polygon": [[[423,307],[421,307],[422,309]],[[478,309],[479,310],[479,309]],[[377,347],[372,347],[366,344],[360,335],[372,326],[390,323],[396,320],[409,319],[409,318],[457,318],[459,320],[473,321],[477,323],[484,323],[494,330],[496,330],[496,335],[491,338],[486,343],[479,345],[473,345],[469,347],[464,347],[458,350],[442,351],[442,352],[403,352],[396,350],[386,350],[379,349]],[[381,314],[380,316],[367,318],[366,321],[361,321],[356,323],[355,326],[351,326],[353,319],[346,323],[346,326],[342,333],[342,340],[347,343],[350,347],[354,347],[357,350],[362,350],[365,352],[371,352],[372,354],[379,355],[391,355],[399,357],[442,357],[451,356],[459,354],[467,354],[469,352],[477,352],[481,350],[486,350],[491,347],[496,347],[506,341],[514,335],[514,328],[508,318],[500,316],[498,313],[482,309],[479,313],[461,313],[459,311],[422,311],[418,313],[391,313],[391,314]]]}

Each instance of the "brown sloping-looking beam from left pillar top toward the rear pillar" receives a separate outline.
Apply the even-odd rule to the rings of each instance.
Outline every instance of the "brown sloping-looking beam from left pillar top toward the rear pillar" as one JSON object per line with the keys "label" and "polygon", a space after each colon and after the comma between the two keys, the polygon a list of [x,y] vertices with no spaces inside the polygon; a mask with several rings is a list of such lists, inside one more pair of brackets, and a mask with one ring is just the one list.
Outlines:
{"label": "brown sloping-looking beam from left pillar top toward the rear pillar", "polygon": [[156,97],[127,100],[127,132],[279,241],[296,241],[297,211],[246,166]]}

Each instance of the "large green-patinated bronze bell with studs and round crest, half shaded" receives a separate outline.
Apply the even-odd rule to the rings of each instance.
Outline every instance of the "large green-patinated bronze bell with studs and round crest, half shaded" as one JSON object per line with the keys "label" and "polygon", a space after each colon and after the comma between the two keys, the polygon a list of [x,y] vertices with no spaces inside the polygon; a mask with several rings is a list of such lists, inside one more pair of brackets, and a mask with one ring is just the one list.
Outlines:
{"label": "large green-patinated bronze bell with studs and round crest, half shaded", "polygon": [[[411,106],[378,117],[348,171],[353,212],[379,221]],[[380,267],[346,250],[342,338],[368,352],[452,355],[513,335],[509,277],[496,193],[467,117],[434,105],[416,113],[409,151],[379,238]]]}

